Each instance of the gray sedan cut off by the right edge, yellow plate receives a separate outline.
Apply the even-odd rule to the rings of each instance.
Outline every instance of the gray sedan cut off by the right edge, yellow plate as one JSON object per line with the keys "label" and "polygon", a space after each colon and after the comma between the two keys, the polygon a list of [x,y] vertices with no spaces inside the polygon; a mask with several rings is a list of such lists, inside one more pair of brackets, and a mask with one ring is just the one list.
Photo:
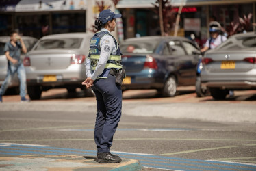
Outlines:
{"label": "gray sedan cut off by the right edge, yellow plate", "polygon": [[225,99],[229,90],[256,89],[256,34],[231,36],[205,53],[202,63],[202,86],[216,100]]}

